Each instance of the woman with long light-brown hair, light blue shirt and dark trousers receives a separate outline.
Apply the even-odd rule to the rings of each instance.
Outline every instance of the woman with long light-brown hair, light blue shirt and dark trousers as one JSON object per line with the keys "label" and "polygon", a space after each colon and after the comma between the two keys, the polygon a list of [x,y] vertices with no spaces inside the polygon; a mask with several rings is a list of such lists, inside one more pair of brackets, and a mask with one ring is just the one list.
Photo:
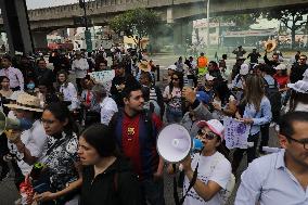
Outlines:
{"label": "woman with long light-brown hair, light blue shirt and dark trousers", "polygon": [[247,162],[251,163],[256,158],[256,151],[261,125],[270,123],[272,118],[271,105],[265,95],[265,85],[261,77],[248,75],[243,84],[244,98],[239,106],[236,118],[251,125],[248,134],[248,148],[238,149],[233,153],[232,170],[236,171],[244,152],[247,152]]}

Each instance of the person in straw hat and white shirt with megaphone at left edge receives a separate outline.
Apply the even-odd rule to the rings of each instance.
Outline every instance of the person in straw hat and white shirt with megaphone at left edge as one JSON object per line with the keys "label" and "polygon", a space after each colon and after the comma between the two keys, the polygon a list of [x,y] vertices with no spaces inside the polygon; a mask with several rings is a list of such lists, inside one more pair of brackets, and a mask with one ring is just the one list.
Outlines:
{"label": "person in straw hat and white shirt with megaphone at left edge", "polygon": [[18,168],[15,170],[17,189],[24,177],[31,170],[31,165],[42,157],[47,134],[40,123],[42,110],[40,100],[27,93],[20,93],[15,104],[4,104],[12,108],[16,119],[0,115],[0,131],[7,133],[10,152],[17,158]]}

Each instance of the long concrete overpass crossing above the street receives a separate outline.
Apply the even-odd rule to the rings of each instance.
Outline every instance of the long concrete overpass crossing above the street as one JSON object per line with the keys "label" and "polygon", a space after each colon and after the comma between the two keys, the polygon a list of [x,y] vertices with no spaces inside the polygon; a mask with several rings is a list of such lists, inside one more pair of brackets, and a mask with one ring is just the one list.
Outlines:
{"label": "long concrete overpass crossing above the street", "polygon": [[[94,25],[106,25],[115,15],[136,8],[153,9],[163,21],[175,23],[177,30],[192,20],[206,16],[207,0],[95,0],[87,3],[88,16]],[[210,0],[210,15],[249,13],[255,10],[307,7],[308,0]],[[46,35],[57,28],[77,27],[82,16],[79,4],[28,11],[35,44],[44,44]],[[0,24],[2,20],[0,18]],[[177,28],[178,27],[178,28]]]}

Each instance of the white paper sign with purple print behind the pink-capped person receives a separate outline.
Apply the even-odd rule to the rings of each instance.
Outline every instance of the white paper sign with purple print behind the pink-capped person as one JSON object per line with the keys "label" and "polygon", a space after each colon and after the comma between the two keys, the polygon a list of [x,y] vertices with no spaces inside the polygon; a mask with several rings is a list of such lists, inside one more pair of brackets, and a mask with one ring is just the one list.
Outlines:
{"label": "white paper sign with purple print behind the pink-capped person", "polygon": [[247,149],[247,138],[251,125],[244,124],[232,117],[223,118],[224,140],[228,149]]}

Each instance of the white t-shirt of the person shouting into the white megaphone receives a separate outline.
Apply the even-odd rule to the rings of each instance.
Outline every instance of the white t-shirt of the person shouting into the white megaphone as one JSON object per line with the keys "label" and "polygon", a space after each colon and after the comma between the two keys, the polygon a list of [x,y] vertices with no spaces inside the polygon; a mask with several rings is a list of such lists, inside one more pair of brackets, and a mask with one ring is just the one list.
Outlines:
{"label": "white t-shirt of the person shouting into the white megaphone", "polygon": [[[218,161],[218,163],[217,163]],[[207,183],[208,180],[215,181],[222,189],[226,189],[227,183],[231,177],[231,164],[230,162],[219,152],[216,152],[211,156],[203,156],[200,154],[194,154],[192,156],[192,169],[194,170],[198,162],[197,179]],[[215,168],[213,168],[215,167]],[[183,193],[187,192],[189,188],[189,179],[185,177]],[[183,203],[183,205],[220,205],[222,202],[219,197],[219,192],[213,196],[208,202],[205,202],[195,190],[192,188]]]}

